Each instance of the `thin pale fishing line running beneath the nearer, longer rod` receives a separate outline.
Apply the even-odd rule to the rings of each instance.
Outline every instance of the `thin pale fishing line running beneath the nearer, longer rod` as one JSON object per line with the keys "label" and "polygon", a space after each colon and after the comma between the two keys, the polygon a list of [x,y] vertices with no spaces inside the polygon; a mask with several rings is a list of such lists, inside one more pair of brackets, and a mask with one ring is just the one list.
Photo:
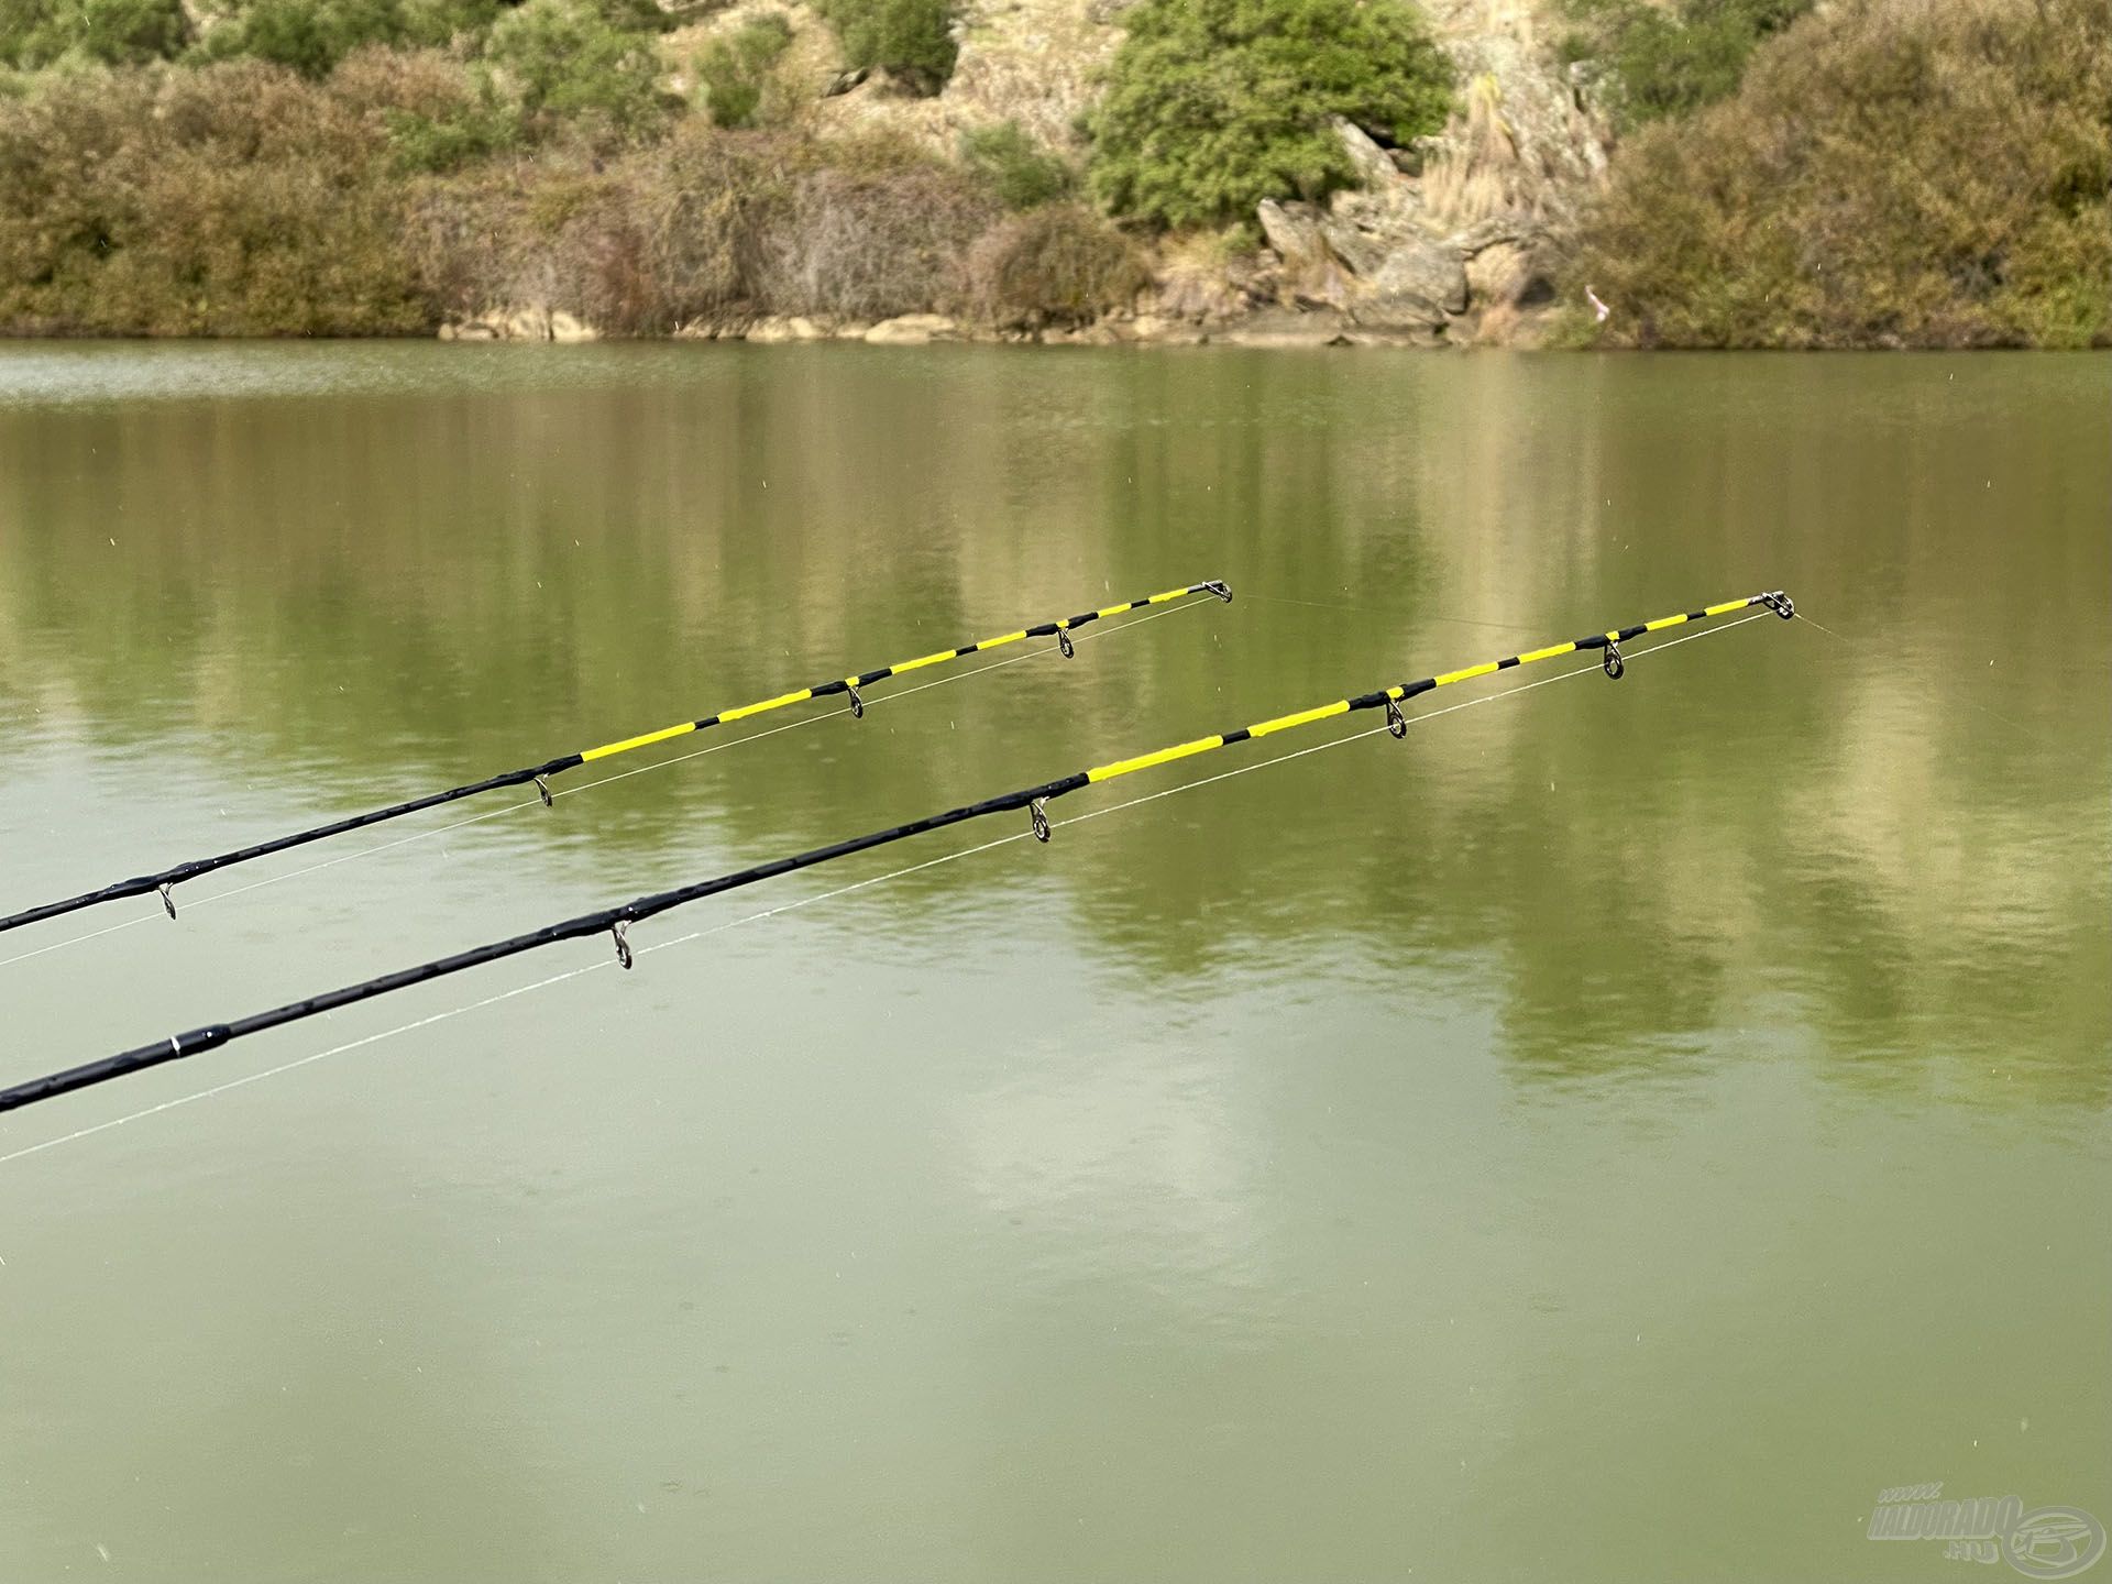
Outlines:
{"label": "thin pale fishing line running beneath the nearer, longer rod", "polygon": [[[1698,642],[1702,638],[1717,638],[1721,634],[1728,634],[1728,631],[1734,631],[1736,627],[1747,625],[1749,621],[1759,621],[1766,615],[1768,615],[1766,610],[1755,610],[1753,615],[1740,617],[1738,621],[1730,621],[1730,623],[1726,623],[1721,627],[1709,627],[1706,631],[1685,634],[1681,638],[1666,638],[1666,640],[1660,640],[1656,644],[1649,644],[1647,648],[1633,650],[1628,655],[1628,659],[1643,659],[1645,655],[1658,655],[1658,653],[1662,653],[1666,648],[1679,648],[1679,644],[1692,644],[1692,642]],[[1409,716],[1407,724],[1421,727],[1421,724],[1428,724],[1432,720],[1438,720],[1440,716],[1459,714],[1462,710],[1476,710],[1476,708],[1481,708],[1485,703],[1497,703],[1500,699],[1512,699],[1512,697],[1516,697],[1521,693],[1531,693],[1533,689],[1552,686],[1557,682],[1569,682],[1569,680],[1580,678],[1580,676],[1592,676],[1595,672],[1601,672],[1601,670],[1603,670],[1601,665],[1578,665],[1576,670],[1559,672],[1557,676],[1544,676],[1544,678],[1538,678],[1533,682],[1521,682],[1519,686],[1502,689],[1500,693],[1485,693],[1485,695],[1481,695],[1476,699],[1462,699],[1459,703],[1447,705],[1442,710],[1419,712],[1415,716]],[[1238,767],[1233,767],[1229,771],[1219,771],[1217,775],[1204,775],[1204,777],[1198,777],[1193,781],[1183,781],[1181,786],[1162,788],[1157,792],[1147,792],[1143,796],[1128,798],[1126,803],[1115,803],[1115,805],[1109,805],[1105,809],[1088,809],[1086,813],[1077,813],[1077,815],[1071,815],[1067,819],[1052,822],[1052,828],[1054,830],[1064,830],[1069,826],[1081,826],[1088,819],[1102,819],[1102,817],[1107,817],[1111,813],[1124,813],[1128,809],[1140,809],[1147,803],[1157,803],[1162,798],[1170,798],[1170,796],[1176,796],[1181,792],[1195,792],[1200,788],[1214,786],[1219,781],[1229,781],[1229,779],[1233,779],[1238,775],[1252,775],[1255,771],[1265,771],[1265,769],[1274,769],[1278,765],[1288,765],[1290,760],[1297,760],[1297,758],[1309,758],[1312,754],[1324,754],[1331,748],[1343,748],[1347,743],[1360,743],[1360,741],[1364,741],[1369,737],[1377,737],[1377,735],[1390,733],[1390,731],[1394,731],[1392,722],[1379,724],[1379,727],[1371,727],[1369,731],[1356,731],[1356,733],[1350,733],[1347,737],[1333,737],[1333,739],[1328,739],[1324,743],[1314,743],[1312,748],[1297,748],[1297,750],[1290,750],[1286,754],[1276,754],[1271,758],[1257,760],[1252,765],[1238,765]],[[708,936],[720,936],[720,934],[724,934],[729,929],[739,929],[743,925],[760,923],[765,919],[775,919],[775,917],[786,914],[786,912],[796,912],[798,908],[809,908],[809,906],[813,906],[817,902],[832,902],[836,898],[851,895],[853,891],[866,891],[866,889],[870,889],[874,885],[883,885],[887,881],[898,881],[898,879],[902,879],[906,874],[919,874],[923,870],[931,870],[931,868],[938,868],[942,864],[953,864],[953,862],[963,860],[963,857],[978,857],[980,853],[988,853],[988,851],[995,851],[999,847],[1010,847],[1016,841],[1026,841],[1031,834],[1035,834],[1035,832],[1033,830],[1016,830],[1016,832],[1012,832],[1007,836],[997,836],[993,841],[978,843],[976,847],[963,847],[963,849],[953,851],[953,853],[940,853],[938,857],[927,857],[927,860],[917,862],[917,864],[906,864],[906,866],[893,868],[893,870],[889,870],[885,874],[872,874],[868,879],[853,881],[849,885],[838,885],[838,887],[834,887],[830,891],[817,891],[813,895],[794,898],[790,902],[779,902],[777,906],[762,908],[758,912],[750,912],[750,914],[743,914],[739,919],[729,919],[724,923],[708,925],[703,929],[691,929],[689,934],[674,936],[672,940],[653,942],[648,946],[638,946],[634,950],[636,950],[638,957],[648,957],[653,953],[672,950],[674,946],[689,946],[689,944],[693,944],[697,940],[703,940]],[[344,1041],[340,1045],[329,1045],[327,1050],[310,1052],[308,1056],[296,1056],[294,1060],[281,1062],[277,1067],[266,1067],[266,1069],[256,1071],[256,1073],[245,1073],[241,1077],[232,1077],[232,1079],[226,1079],[222,1083],[213,1083],[213,1086],[209,1086],[205,1090],[196,1090],[192,1094],[182,1094],[182,1096],[175,1096],[171,1100],[161,1100],[156,1105],[142,1107],[139,1111],[131,1111],[131,1113],[120,1115],[120,1117],[110,1117],[106,1121],[97,1121],[97,1124],[91,1124],[87,1128],[76,1128],[70,1134],[59,1134],[55,1138],[46,1138],[46,1140],[40,1140],[36,1145],[25,1145],[25,1147],[15,1149],[15,1151],[11,1151],[6,1155],[0,1155],[0,1166],[8,1166],[11,1162],[25,1159],[27,1155],[38,1155],[38,1153],[42,1153],[46,1149],[57,1149],[59,1145],[70,1145],[70,1143],[76,1143],[80,1138],[91,1138],[91,1136],[95,1136],[99,1132],[108,1132],[112,1128],[122,1128],[122,1126],[129,1126],[133,1121],[142,1121],[146,1117],[161,1115],[163,1111],[175,1111],[177,1107],[196,1105],[199,1100],[211,1100],[211,1098],[228,1094],[232,1090],[241,1090],[241,1088],[247,1088],[251,1083],[262,1083],[268,1077],[281,1077],[283,1073],[296,1073],[296,1071],[300,1071],[304,1067],[313,1067],[313,1064],[317,1064],[321,1060],[327,1060],[332,1056],[344,1056],[348,1052],[363,1050],[367,1045],[376,1045],[376,1043],[380,1043],[384,1039],[393,1039],[395,1035],[416,1033],[418,1029],[431,1029],[433,1024],[448,1022],[448,1020],[465,1016],[469,1012],[482,1012],[484,1007],[498,1005],[501,1001],[511,1001],[515,997],[528,995],[530,991],[545,991],[545,988],[551,988],[555,984],[564,984],[568,980],[577,980],[583,974],[598,974],[598,972],[602,972],[606,967],[615,967],[615,959],[602,957],[602,959],[598,959],[593,963],[581,963],[579,967],[568,967],[568,969],[564,969],[560,974],[549,974],[549,976],[545,976],[541,980],[532,980],[528,984],[517,984],[517,986],[513,986],[509,991],[498,991],[494,995],[486,995],[486,997],[479,997],[475,1001],[467,1001],[467,1003],[463,1003],[458,1007],[450,1007],[446,1012],[433,1012],[433,1014],[427,1014],[425,1018],[414,1018],[414,1020],[397,1024],[393,1029],[382,1029],[382,1031],[372,1033],[372,1035],[361,1035],[359,1039],[348,1039],[348,1041]]]}

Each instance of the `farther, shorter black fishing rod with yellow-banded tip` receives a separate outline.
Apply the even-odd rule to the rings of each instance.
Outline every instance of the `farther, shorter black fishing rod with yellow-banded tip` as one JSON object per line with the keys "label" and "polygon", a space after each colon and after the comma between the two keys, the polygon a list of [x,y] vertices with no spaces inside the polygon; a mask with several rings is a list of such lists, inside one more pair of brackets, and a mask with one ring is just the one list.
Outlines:
{"label": "farther, shorter black fishing rod with yellow-banded tip", "polygon": [[659,731],[646,731],[638,737],[625,737],[623,741],[602,743],[600,748],[585,748],[577,754],[562,754],[558,758],[547,758],[541,765],[524,765],[517,771],[503,771],[501,775],[488,775],[482,781],[467,781],[463,786],[450,786],[446,792],[429,792],[422,798],[410,798],[408,803],[391,803],[384,809],[372,809],[367,813],[355,813],[344,819],[332,819],[325,826],[310,826],[308,830],[296,830],[289,836],[275,836],[272,841],[256,843],[253,847],[237,847],[228,853],[215,853],[211,857],[192,857],[188,864],[171,864],[154,874],[135,874],[129,881],[116,881],[95,891],[82,891],[80,895],[65,898],[61,902],[44,902],[34,908],[23,908],[21,912],[11,912],[0,917],[0,934],[8,929],[21,929],[23,925],[42,923],[44,919],[57,919],[68,912],[78,912],[82,908],[93,908],[101,902],[122,902],[133,895],[148,895],[150,891],[161,893],[161,906],[175,917],[175,895],[173,887],[184,881],[194,881],[201,874],[211,874],[213,870],[232,868],[234,864],[247,864],[253,857],[270,857],[272,853],[283,853],[289,847],[306,847],[310,841],[327,841],[329,836],[342,836],[351,830],[365,830],[367,826],[378,826],[386,819],[401,819],[410,813],[422,813],[425,809],[437,809],[444,803],[456,803],[460,798],[473,798],[479,792],[496,792],[507,786],[526,786],[534,781],[536,792],[543,796],[543,807],[551,807],[549,777],[562,775],[564,771],[579,769],[581,765],[591,765],[600,758],[615,758],[617,754],[629,754],[634,748],[650,748],[655,743],[670,741],[672,737],[686,737],[693,731],[710,731],[712,727],[731,727],[735,720],[748,720],[752,716],[769,714],[771,710],[786,710],[794,703],[807,703],[809,699],[828,699],[838,693],[847,695],[851,701],[851,716],[864,718],[866,697],[860,689],[872,686],[874,682],[885,682],[889,676],[902,676],[906,672],[921,672],[925,665],[944,665],[948,661],[963,659],[967,655],[980,655],[988,648],[1003,648],[1005,644],[1018,644],[1029,638],[1054,638],[1056,646],[1062,650],[1064,659],[1075,655],[1071,644],[1071,634],[1079,627],[1088,627],[1094,621],[1105,621],[1109,617],[1119,617],[1128,610],[1143,610],[1153,604],[1170,604],[1172,600],[1185,600],[1191,593],[1214,593],[1225,604],[1231,604],[1231,585],[1221,579],[1208,583],[1189,583],[1185,589],[1166,589],[1164,593],[1147,593],[1143,600],[1128,600],[1124,604],[1111,604],[1105,610],[1086,610],[1075,617],[1062,617],[1060,621],[1041,621],[1033,627],[1020,627],[1018,631],[999,634],[997,638],[984,638],[974,644],[959,644],[957,648],[940,648],[931,655],[919,655],[910,661],[898,661],[893,665],[881,665],[872,672],[860,672],[857,676],[841,676],[828,682],[815,682],[813,686],[792,689],[790,693],[779,693],[773,699],[758,699],[756,703],[743,703],[733,710],[720,710],[714,716],[703,716],[701,720],[680,720],[672,727],[661,727]]}

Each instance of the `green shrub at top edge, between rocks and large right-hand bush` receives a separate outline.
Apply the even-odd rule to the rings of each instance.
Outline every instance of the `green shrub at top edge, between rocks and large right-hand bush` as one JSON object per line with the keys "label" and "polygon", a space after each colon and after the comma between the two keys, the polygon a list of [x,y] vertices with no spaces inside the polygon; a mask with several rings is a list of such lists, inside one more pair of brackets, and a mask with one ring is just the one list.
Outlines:
{"label": "green shrub at top edge, between rocks and large right-hand bush", "polygon": [[1578,27],[1565,59],[1605,63],[1605,97],[1616,120],[1637,127],[1687,114],[1738,91],[1755,44],[1783,32],[1812,0],[1569,0]]}

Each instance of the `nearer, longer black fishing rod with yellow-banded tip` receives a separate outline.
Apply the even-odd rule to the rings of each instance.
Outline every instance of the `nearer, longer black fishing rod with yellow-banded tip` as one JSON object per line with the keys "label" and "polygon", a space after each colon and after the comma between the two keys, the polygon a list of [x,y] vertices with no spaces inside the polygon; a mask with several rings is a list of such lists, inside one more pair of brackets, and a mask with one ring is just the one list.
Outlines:
{"label": "nearer, longer black fishing rod with yellow-banded tip", "polygon": [[1297,727],[1309,727],[1316,720],[1331,720],[1333,716],[1345,716],[1356,710],[1383,710],[1385,729],[1396,737],[1409,735],[1409,718],[1402,714],[1400,705],[1421,693],[1434,689],[1451,686],[1453,682],[1468,682],[1476,676],[1489,676],[1493,672],[1508,672],[1516,665],[1533,665],[1535,661],[1557,659],[1559,655],[1576,655],[1584,650],[1601,650],[1601,665],[1605,674],[1620,680],[1626,670],[1626,661],[1620,646],[1630,638],[1643,634],[1662,631],[1666,627],[1679,627],[1690,621],[1709,621],[1713,617],[1726,617],[1734,610],[1747,610],[1751,606],[1764,606],[1774,610],[1783,621],[1797,615],[1795,602],[1774,589],[1770,593],[1751,593],[1745,600],[1726,600],[1723,604],[1702,606],[1700,610],[1687,610],[1673,617],[1658,617],[1656,621],[1645,621],[1635,627],[1618,627],[1614,631],[1590,634],[1588,638],[1576,638],[1567,644],[1548,644],[1546,648],[1533,648],[1523,655],[1508,655],[1506,659],[1487,661],[1483,665],[1468,665],[1457,672],[1442,672],[1438,676],[1426,676],[1419,682],[1400,682],[1390,689],[1379,689],[1377,693],[1358,693],[1352,699],[1335,699],[1333,703],[1322,703],[1312,710],[1299,710],[1297,714],[1276,716],[1274,720],[1261,720],[1252,727],[1238,727],[1233,731],[1217,733],[1214,737],[1195,737],[1193,741],[1174,743],[1172,748],[1159,748],[1151,754],[1136,754],[1134,758],[1117,758],[1109,765],[1096,765],[1086,771],[1073,771],[1071,775],[1060,775],[1054,781],[1041,781],[1039,786],[1024,786],[1016,792],[1003,792],[995,798],[984,798],[982,803],[965,803],[959,809],[946,809],[944,813],[925,815],[923,819],[912,819],[906,826],[887,826],[885,830],[872,830],[864,836],[851,836],[849,841],[836,841],[828,847],[813,847],[805,853],[794,853],[792,857],[777,857],[769,864],[756,864],[752,868],[733,870],[731,874],[718,874],[710,881],[697,881],[693,885],[680,885],[672,891],[657,891],[653,895],[634,898],[615,908],[600,908],[598,912],[583,912],[577,919],[564,919],[553,925],[543,925],[541,929],[530,929],[522,936],[507,936],[505,940],[494,940],[488,946],[473,946],[465,953],[454,953],[452,957],[435,957],[429,963],[418,963],[414,967],[397,969],[395,974],[382,974],[380,978],[361,980],[357,984],[346,984],[340,991],[325,991],[323,995],[313,995],[304,1001],[287,1001],[270,1012],[253,1012],[247,1018],[234,1018],[230,1022],[211,1022],[203,1029],[190,1029],[180,1035],[169,1035],[152,1045],[139,1045],[135,1050],[118,1052],[116,1056],[103,1056],[101,1060],[87,1062],[82,1067],[65,1069],[63,1073],[51,1073],[46,1077],[27,1079],[15,1083],[13,1088],[0,1090],[0,1111],[17,1111],[21,1107],[38,1105],[42,1100],[53,1100],[61,1094],[74,1094],[76,1090],[89,1090],[97,1083],[108,1083],[131,1073],[142,1073],[148,1067],[161,1067],[165,1062],[182,1060],[186,1056],[199,1056],[207,1050],[215,1050],[234,1039],[245,1039],[247,1035],[264,1033],[266,1029],[279,1029],[287,1022],[300,1022],[302,1018],[317,1018],[325,1012],[336,1012],[338,1007],[348,1007],[357,1001],[372,1001],[378,995],[389,995],[391,991],[403,991],[412,984],[425,984],[427,980],[446,978],[448,974],[460,974],[469,967],[482,967],[484,963],[496,963],[505,957],[520,957],[522,953],[536,950],[541,946],[555,946],[560,940],[581,940],[585,936],[606,934],[615,942],[617,961],[623,967],[631,967],[631,944],[629,927],[642,919],[667,912],[670,908],[680,908],[689,902],[701,902],[703,898],[720,895],[722,891],[737,891],[746,885],[756,885],[760,881],[777,879],[779,874],[792,874],[794,870],[813,868],[815,864],[828,864],[838,857],[851,857],[855,853],[872,851],[874,847],[889,847],[898,841],[908,841],[910,836],[921,836],[931,830],[944,830],[948,826],[959,826],[967,819],[982,819],[993,813],[1014,813],[1026,809],[1029,824],[1033,828],[1035,841],[1045,843],[1050,838],[1048,805],[1054,798],[1079,792],[1088,786],[1100,786],[1113,781],[1121,775],[1134,775],[1136,771],[1149,771],[1159,765],[1172,765],[1181,758],[1191,758],[1195,754],[1208,754],[1219,748],[1231,748],[1233,743],[1255,741],[1259,737],[1271,737],[1280,731],[1293,731]]}

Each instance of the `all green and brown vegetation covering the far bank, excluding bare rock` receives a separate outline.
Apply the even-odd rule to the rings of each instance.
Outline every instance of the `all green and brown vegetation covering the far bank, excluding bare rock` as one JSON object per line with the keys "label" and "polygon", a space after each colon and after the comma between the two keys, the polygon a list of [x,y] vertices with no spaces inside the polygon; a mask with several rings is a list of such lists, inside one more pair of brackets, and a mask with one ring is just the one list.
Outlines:
{"label": "all green and brown vegetation covering the far bank, excluding bare rock", "polygon": [[[1624,129],[1569,300],[1633,346],[2112,342],[2104,0],[1554,0]],[[955,65],[955,0],[822,0],[862,93]],[[0,0],[0,332],[608,334],[758,315],[1090,323],[1436,131],[1407,0],[1136,0],[1081,161],[815,131],[786,13],[657,0]],[[826,72],[824,72],[826,76]],[[885,87],[883,87],[885,84]],[[1172,232],[1172,234],[1168,234]]]}

